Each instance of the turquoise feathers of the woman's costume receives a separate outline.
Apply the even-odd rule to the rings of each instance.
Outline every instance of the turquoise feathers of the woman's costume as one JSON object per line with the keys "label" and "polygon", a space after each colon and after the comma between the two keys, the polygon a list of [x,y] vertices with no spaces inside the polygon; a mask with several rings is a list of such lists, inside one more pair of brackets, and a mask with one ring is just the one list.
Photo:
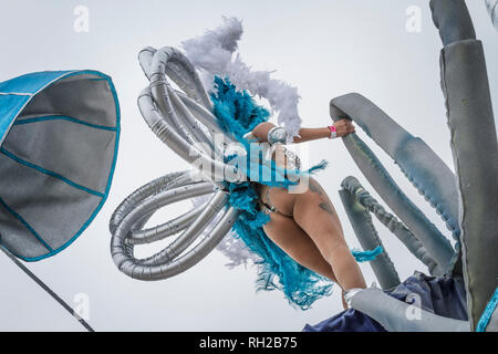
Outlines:
{"label": "turquoise feathers of the woman's costume", "polygon": [[[249,155],[249,142],[242,136],[251,132],[259,123],[267,122],[269,112],[258,106],[252,97],[246,92],[236,90],[228,79],[215,77],[215,88],[217,92],[210,94],[214,104],[214,113],[219,119],[221,128],[235,136],[242,144]],[[226,163],[232,163],[237,155],[226,157]],[[242,170],[248,171],[249,180],[245,183],[226,181],[226,188],[230,191],[228,204],[241,211],[238,220],[232,229],[236,237],[240,238],[250,251],[255,252],[261,261],[258,262],[257,290],[274,290],[283,291],[289,303],[297,305],[302,310],[307,310],[311,304],[321,296],[330,295],[332,291],[332,282],[326,278],[302,267],[283,252],[273,241],[264,233],[262,226],[270,220],[270,217],[258,208],[258,192],[256,185],[264,184],[269,186],[290,187],[295,181],[288,178],[273,178],[278,174],[286,176],[288,170],[276,165],[273,160],[259,164],[259,176],[253,176],[253,162],[247,159],[246,166],[237,165]],[[266,168],[271,169],[270,180],[261,177]],[[298,175],[309,175],[314,170],[323,169],[326,162],[313,166],[305,171],[292,170]],[[251,168],[252,167],[252,168]],[[252,179],[252,180],[251,180]],[[255,180],[258,180],[256,183]]]}

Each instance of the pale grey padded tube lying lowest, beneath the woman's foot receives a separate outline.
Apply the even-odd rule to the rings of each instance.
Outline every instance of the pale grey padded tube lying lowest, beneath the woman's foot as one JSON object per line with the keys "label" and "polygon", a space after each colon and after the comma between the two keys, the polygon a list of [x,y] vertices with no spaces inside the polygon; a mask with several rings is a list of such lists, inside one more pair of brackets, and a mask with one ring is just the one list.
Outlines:
{"label": "pale grey padded tube lying lowest, beneath the woman's foot", "polygon": [[[436,315],[414,304],[394,299],[380,289],[361,290],[351,298],[351,306],[382,324],[388,332],[468,332],[469,323]],[[417,312],[419,317],[411,317]]]}

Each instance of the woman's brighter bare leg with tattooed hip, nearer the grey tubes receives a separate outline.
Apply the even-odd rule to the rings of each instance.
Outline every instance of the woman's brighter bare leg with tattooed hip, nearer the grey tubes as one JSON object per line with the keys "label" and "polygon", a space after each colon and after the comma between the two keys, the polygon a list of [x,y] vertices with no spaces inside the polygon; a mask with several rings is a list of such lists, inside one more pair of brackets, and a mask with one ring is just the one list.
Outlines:
{"label": "woman's brighter bare leg with tattooed hip, nearer the grey tubes", "polygon": [[343,290],[366,288],[354,257],[347,247],[341,222],[326,192],[313,178],[300,194],[271,188],[271,202],[283,214],[291,214],[299,227],[313,240]]}

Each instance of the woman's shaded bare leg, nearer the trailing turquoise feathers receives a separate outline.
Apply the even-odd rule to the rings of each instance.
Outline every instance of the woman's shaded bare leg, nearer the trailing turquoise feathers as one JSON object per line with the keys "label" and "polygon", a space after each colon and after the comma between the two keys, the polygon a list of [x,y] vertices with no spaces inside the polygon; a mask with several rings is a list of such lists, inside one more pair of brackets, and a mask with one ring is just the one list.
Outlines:
{"label": "woman's shaded bare leg, nearer the trailing turquoise feathers", "polygon": [[322,257],[317,244],[291,217],[270,212],[270,218],[263,230],[274,243],[301,266],[338,282],[332,267]]}

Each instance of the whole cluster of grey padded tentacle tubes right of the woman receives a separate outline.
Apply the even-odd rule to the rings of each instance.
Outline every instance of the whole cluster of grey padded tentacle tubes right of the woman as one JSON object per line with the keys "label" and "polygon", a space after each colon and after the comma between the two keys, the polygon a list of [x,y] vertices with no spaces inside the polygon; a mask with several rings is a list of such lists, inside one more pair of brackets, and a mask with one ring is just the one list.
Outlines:
{"label": "whole cluster of grey padded tentacle tubes right of the woman", "polygon": [[[354,309],[388,331],[475,331],[488,302],[491,303],[498,279],[496,127],[483,44],[476,40],[465,1],[432,0],[430,10],[444,44],[440,52],[442,88],[456,175],[421,138],[412,136],[365,97],[347,94],[333,98],[330,112],[334,121],[353,119],[394,159],[446,221],[457,241],[457,250],[403,194],[373,152],[354,133],[343,138],[347,150],[403,223],[386,214],[354,177],[344,179],[340,195],[362,247],[381,244],[367,218],[367,211],[371,211],[429,268],[432,274],[463,277],[468,322],[424,310],[421,310],[419,321],[409,321],[405,315],[408,304],[375,288],[354,292],[350,299]],[[398,282],[387,256],[372,262],[372,267],[383,289]],[[490,311],[487,330],[496,331],[498,314],[496,308]]]}

